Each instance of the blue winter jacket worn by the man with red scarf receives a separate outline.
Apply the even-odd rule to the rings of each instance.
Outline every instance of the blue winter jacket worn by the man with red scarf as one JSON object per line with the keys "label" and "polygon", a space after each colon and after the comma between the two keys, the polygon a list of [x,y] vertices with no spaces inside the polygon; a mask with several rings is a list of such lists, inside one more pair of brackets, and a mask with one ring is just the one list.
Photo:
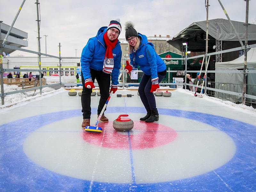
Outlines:
{"label": "blue winter jacket worn by the man with red scarf", "polygon": [[[107,50],[103,35],[108,27],[101,27],[95,37],[89,39],[85,45],[81,55],[81,67],[84,79],[91,77],[90,68],[102,71],[103,62]],[[112,50],[114,58],[114,68],[111,73],[112,84],[118,85],[118,75],[121,68],[122,50],[120,42],[117,41],[115,48]]]}

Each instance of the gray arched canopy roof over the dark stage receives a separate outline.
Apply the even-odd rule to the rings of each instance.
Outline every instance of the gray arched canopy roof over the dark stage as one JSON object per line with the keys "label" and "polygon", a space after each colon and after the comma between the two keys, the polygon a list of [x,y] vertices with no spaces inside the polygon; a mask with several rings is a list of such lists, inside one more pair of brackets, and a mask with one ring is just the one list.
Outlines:
{"label": "gray arched canopy roof over the dark stage", "polygon": [[[242,41],[245,39],[245,26],[244,22],[232,21],[236,31]],[[208,52],[215,52],[213,46],[217,41],[223,41],[222,50],[227,50],[235,47],[240,47],[240,43],[236,34],[231,27],[228,19],[210,19],[209,31],[208,31]],[[166,40],[169,44],[182,50],[183,42],[188,42],[188,50],[194,52],[205,51],[205,39],[206,38],[206,21],[198,21],[190,24],[188,27],[180,31],[177,35],[174,35],[170,39]],[[256,25],[250,24],[248,26],[248,44],[256,43]],[[238,53],[239,54],[239,53]],[[238,58],[238,54],[235,58]],[[234,58],[233,58],[234,59]],[[228,57],[222,61],[230,61]]]}

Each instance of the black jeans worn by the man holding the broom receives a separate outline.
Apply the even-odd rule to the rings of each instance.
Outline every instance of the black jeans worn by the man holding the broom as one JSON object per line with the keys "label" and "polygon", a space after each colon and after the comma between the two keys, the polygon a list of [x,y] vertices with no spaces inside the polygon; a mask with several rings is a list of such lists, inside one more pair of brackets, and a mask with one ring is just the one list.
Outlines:
{"label": "black jeans worn by the man holding the broom", "polygon": [[[98,105],[98,115],[100,114],[102,108],[104,107],[108,96],[109,96],[109,88],[110,88],[110,74],[104,73],[103,71],[96,71],[94,69],[91,70],[91,77],[94,83],[95,78],[99,84],[100,88],[100,101]],[[92,89],[88,89],[84,86],[84,76],[81,72],[82,76],[82,84],[83,84],[83,91],[81,95],[81,103],[82,103],[82,113],[84,119],[91,119],[91,93]],[[105,109],[106,111],[106,109]]]}

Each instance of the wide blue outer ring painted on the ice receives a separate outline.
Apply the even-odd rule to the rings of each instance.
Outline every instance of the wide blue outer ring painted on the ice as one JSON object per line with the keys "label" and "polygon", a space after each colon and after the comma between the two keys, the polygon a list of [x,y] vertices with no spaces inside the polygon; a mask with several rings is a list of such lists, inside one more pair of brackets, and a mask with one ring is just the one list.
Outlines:
{"label": "wide blue outer ring painted on the ice", "polygon": [[[159,114],[197,119],[227,133],[236,143],[236,154],[225,165],[195,177],[146,184],[93,182],[94,191],[252,191],[256,189],[256,126],[221,116],[158,109]],[[96,108],[92,109],[95,114]],[[108,107],[108,113],[144,113],[143,107]],[[61,119],[81,116],[81,110],[59,111],[0,125],[0,191],[89,191],[90,181],[71,178],[36,165],[22,149],[33,131]],[[29,126],[33,122],[33,126]],[[220,157],[221,158],[221,157]],[[57,163],[57,162],[56,162]],[[253,170],[254,169],[254,170]]]}

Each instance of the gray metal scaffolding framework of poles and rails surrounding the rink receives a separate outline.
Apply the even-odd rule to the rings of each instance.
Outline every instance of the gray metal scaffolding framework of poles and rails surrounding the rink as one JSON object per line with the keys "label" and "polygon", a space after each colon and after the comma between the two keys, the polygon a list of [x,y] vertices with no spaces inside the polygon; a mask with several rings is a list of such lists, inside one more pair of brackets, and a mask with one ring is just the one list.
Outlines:
{"label": "gray metal scaffolding framework of poles and rails surrounding the rink", "polygon": [[[232,21],[229,19],[228,17],[228,13],[227,11],[224,9],[223,5],[221,4],[220,0],[218,0],[219,3],[220,3],[220,6],[221,8],[223,9],[225,15],[227,16],[231,26],[233,27],[234,31],[236,32],[236,29],[235,27],[233,26],[232,24]],[[245,37],[247,38],[248,36],[248,10],[249,10],[249,0],[244,0],[246,1],[246,16],[245,16],[245,20],[246,20],[246,24],[245,24]],[[12,22],[12,26],[13,24],[15,23],[20,11],[21,11],[21,8],[24,4],[25,0],[23,0],[20,8],[19,8],[19,11],[17,13],[17,15],[15,16],[15,19],[13,20]],[[208,12],[209,12],[209,0],[206,1],[207,3],[205,4],[205,7],[206,7],[206,25],[208,26]],[[41,18],[39,17],[39,12],[40,12],[40,6],[39,6],[39,1],[36,0],[36,9],[37,9],[37,33],[38,33],[38,51],[32,51],[32,50],[25,50],[25,49],[22,49],[22,48],[18,48],[18,47],[14,47],[14,46],[11,46],[11,45],[5,45],[5,41],[7,40],[8,38],[8,35],[12,29],[12,26],[10,27],[8,33],[6,34],[6,37],[4,38],[4,40],[2,41],[1,40],[1,35],[0,35],[0,76],[1,76],[1,99],[2,99],[2,105],[4,105],[4,96],[6,95],[11,95],[11,94],[15,94],[15,93],[19,93],[19,92],[25,92],[25,91],[30,91],[30,90],[36,90],[36,89],[40,89],[40,94],[42,94],[42,88],[44,87],[53,87],[53,86],[63,86],[64,84],[61,82],[61,76],[60,76],[60,80],[59,80],[59,83],[54,83],[54,84],[50,84],[50,85],[42,85],[42,78],[41,78],[41,73],[42,73],[42,69],[41,69],[41,56],[44,55],[44,56],[47,56],[47,57],[52,57],[52,58],[58,58],[59,59],[59,70],[57,70],[59,72],[59,74],[61,73],[61,59],[80,59],[80,57],[61,57],[61,45],[59,43],[59,56],[53,56],[53,55],[49,55],[49,54],[44,54],[44,53],[41,53],[41,45],[40,45],[40,21],[41,21]],[[0,21],[0,33],[1,33],[1,22]],[[237,35],[237,33],[236,33]],[[228,52],[232,52],[232,51],[237,51],[237,50],[244,50],[245,54],[244,54],[244,70],[242,71],[225,71],[225,70],[222,70],[222,71],[215,71],[215,70],[208,70],[207,73],[242,73],[244,75],[244,83],[243,83],[243,92],[240,93],[240,92],[236,92],[237,90],[235,89],[227,89],[227,90],[223,90],[223,89],[220,89],[219,86],[220,84],[218,84],[218,86],[213,86],[212,82],[207,82],[207,78],[206,78],[206,81],[205,81],[205,85],[203,86],[198,86],[199,88],[202,88],[204,87],[204,89],[206,90],[205,93],[209,94],[210,96],[212,96],[212,93],[214,92],[217,92],[217,93],[224,93],[224,94],[229,94],[229,95],[232,95],[232,96],[236,96],[236,98],[242,98],[242,103],[245,104],[245,98],[248,98],[250,99],[252,102],[256,100],[256,96],[254,95],[250,95],[250,94],[246,94],[246,75],[249,74],[249,73],[256,73],[256,70],[247,70],[247,67],[246,67],[246,64],[247,64],[247,50],[250,49],[250,48],[253,48],[253,47],[256,47],[256,44],[252,44],[252,45],[248,45],[247,44],[247,39],[245,38],[245,44],[242,43],[242,40],[239,38],[239,36],[237,35],[238,39],[239,39],[239,42],[241,44],[241,47],[236,47],[236,48],[233,48],[233,49],[228,49],[228,50],[222,50],[222,41],[218,41],[216,40],[216,52],[214,53],[208,53],[208,27],[207,27],[207,31],[206,31],[206,38],[205,38],[205,43],[206,43],[206,50],[205,50],[205,54],[204,55],[198,55],[198,56],[195,56],[195,57],[188,57],[187,55],[187,50],[188,50],[188,44],[186,42],[186,45],[182,46],[181,47],[181,51],[183,54],[183,57],[182,58],[172,58],[172,59],[181,59],[182,60],[182,65],[185,65],[185,75],[187,73],[197,73],[199,71],[188,71],[187,70],[187,61],[189,59],[195,59],[195,58],[202,58],[202,57],[208,57],[208,56],[211,56],[211,55],[215,55],[216,56],[216,62],[222,62],[222,53],[228,53]],[[34,87],[34,88],[28,88],[28,89],[23,89],[23,90],[19,90],[19,91],[13,91],[13,92],[8,92],[8,93],[4,93],[4,81],[3,81],[3,73],[4,72],[7,72],[7,71],[27,71],[26,69],[3,69],[3,63],[2,63],[2,49],[3,47],[6,47],[6,48],[10,48],[10,49],[13,49],[13,50],[20,50],[20,51],[24,51],[24,52],[29,52],[29,53],[33,53],[33,54],[36,54],[38,55],[38,67],[39,67],[39,70],[30,70],[30,71],[37,71],[39,72],[39,81],[40,81],[40,86],[39,87]],[[170,59],[170,58],[162,58],[162,59]],[[124,63],[124,61],[123,61]],[[207,63],[207,60],[205,60],[205,63]],[[124,76],[126,78],[123,78],[123,82],[121,83],[121,86],[124,88],[126,86],[131,86],[131,85],[139,85],[139,83],[129,83],[126,81],[127,79],[127,74],[125,73],[124,71],[124,65],[122,65],[123,67],[120,69],[120,72],[125,74]],[[44,70],[44,71],[55,71],[55,70]],[[68,71],[74,71],[74,70],[68,70]],[[202,71],[203,73],[205,73],[205,70]],[[139,73],[142,73],[142,71],[139,71]],[[170,75],[170,73],[177,73],[177,71],[171,71],[171,70],[167,70],[167,74]],[[206,77],[207,77],[207,74],[206,74]],[[169,79],[169,77],[168,77]],[[180,83],[177,83],[177,82],[170,82],[168,81],[168,83],[160,83],[160,85],[163,85],[163,86],[177,86],[179,85]],[[188,83],[186,82],[186,78],[185,78],[185,82],[183,83],[183,85],[186,87]],[[216,83],[215,83],[216,84]],[[222,83],[223,84],[223,83]],[[196,87],[196,85],[191,85],[189,84],[190,86],[193,86],[193,87]],[[209,85],[209,86],[208,86]],[[255,85],[251,85],[253,88],[255,88]],[[214,94],[213,94],[214,95]],[[233,98],[233,97],[232,97]],[[239,99],[237,99],[239,100]]]}

